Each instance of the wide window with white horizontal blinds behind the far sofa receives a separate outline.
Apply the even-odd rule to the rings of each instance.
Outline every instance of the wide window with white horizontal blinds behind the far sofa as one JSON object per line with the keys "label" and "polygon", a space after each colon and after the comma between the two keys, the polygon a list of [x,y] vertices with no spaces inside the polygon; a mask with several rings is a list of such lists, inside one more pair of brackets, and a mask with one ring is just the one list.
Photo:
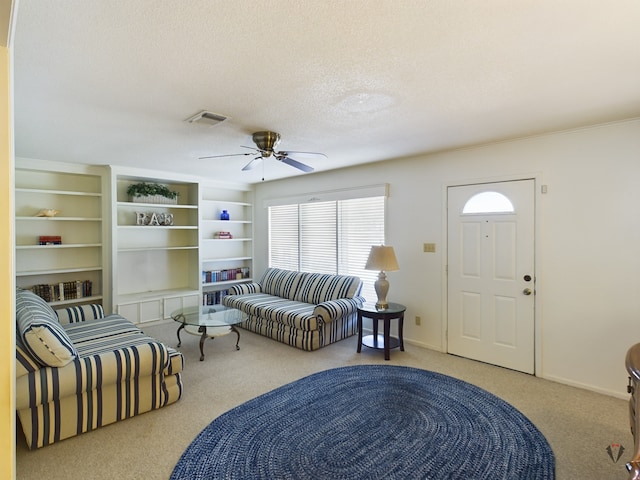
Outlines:
{"label": "wide window with white horizontal blinds behind the far sofa", "polygon": [[355,275],[375,301],[378,272],[365,270],[372,245],[384,243],[385,197],[269,207],[269,266]]}

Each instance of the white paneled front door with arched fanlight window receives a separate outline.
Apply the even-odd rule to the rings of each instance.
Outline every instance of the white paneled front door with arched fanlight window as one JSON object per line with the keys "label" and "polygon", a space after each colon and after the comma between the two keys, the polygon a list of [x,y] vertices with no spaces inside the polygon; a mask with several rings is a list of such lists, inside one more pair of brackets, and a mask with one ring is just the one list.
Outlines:
{"label": "white paneled front door with arched fanlight window", "polygon": [[534,373],[535,181],[449,187],[449,353]]}

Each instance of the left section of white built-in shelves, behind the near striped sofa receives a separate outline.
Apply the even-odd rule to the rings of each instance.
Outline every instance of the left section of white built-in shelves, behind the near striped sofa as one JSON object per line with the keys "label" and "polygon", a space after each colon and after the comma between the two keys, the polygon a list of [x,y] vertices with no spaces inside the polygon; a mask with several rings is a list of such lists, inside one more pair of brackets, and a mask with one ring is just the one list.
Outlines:
{"label": "left section of white built-in shelves, behind the near striped sofa", "polygon": [[[73,295],[59,288],[54,295],[52,289],[49,301],[54,308],[109,301],[104,270],[106,175],[102,167],[16,159],[16,285],[32,289],[91,282],[90,294],[86,289],[82,293],[82,287]],[[38,216],[45,209],[58,213]],[[40,245],[41,236],[58,236],[62,243]]]}

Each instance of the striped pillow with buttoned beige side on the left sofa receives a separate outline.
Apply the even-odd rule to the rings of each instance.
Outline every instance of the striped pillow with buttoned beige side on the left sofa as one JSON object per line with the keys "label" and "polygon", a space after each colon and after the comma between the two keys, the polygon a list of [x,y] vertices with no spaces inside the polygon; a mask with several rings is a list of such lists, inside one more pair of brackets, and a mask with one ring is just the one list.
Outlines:
{"label": "striped pillow with buttoned beige side on the left sofa", "polygon": [[53,309],[33,292],[17,290],[16,326],[26,349],[44,366],[63,367],[78,355]]}

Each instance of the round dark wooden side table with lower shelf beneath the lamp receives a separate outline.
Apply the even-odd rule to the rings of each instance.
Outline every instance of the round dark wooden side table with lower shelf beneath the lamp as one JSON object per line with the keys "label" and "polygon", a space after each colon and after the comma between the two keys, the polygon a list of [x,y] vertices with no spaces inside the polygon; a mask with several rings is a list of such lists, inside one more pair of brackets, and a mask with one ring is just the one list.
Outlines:
{"label": "round dark wooden side table with lower shelf beneath the lamp", "polygon": [[[384,310],[376,308],[374,304],[365,303],[358,307],[358,353],[362,351],[362,345],[369,348],[384,349],[384,359],[389,360],[389,350],[400,347],[404,352],[402,339],[402,327],[404,324],[404,312],[407,309],[399,303],[389,303]],[[362,338],[362,319],[373,320],[373,335]],[[391,320],[398,319],[398,338],[391,336]],[[384,321],[383,335],[378,335],[378,321]]]}

